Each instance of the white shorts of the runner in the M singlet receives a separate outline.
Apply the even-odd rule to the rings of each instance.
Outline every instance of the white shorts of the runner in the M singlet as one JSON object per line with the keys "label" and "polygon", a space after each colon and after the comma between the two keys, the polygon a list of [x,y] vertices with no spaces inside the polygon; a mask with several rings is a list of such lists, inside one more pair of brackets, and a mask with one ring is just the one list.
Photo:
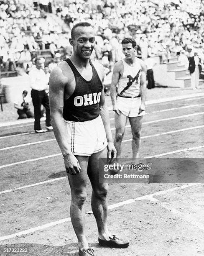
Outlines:
{"label": "white shorts of the runner in the M singlet", "polygon": [[117,106],[120,112],[127,117],[137,117],[145,115],[145,111],[139,113],[139,108],[141,105],[141,98],[125,98],[125,97],[117,97]]}

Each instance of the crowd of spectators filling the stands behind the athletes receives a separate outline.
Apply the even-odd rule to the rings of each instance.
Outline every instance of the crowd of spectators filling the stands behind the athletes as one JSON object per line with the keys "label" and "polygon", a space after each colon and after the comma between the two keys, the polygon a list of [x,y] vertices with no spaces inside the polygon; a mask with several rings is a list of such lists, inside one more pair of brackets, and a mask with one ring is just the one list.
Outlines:
{"label": "crowd of spectators filling the stands behind the athletes", "polygon": [[95,28],[92,59],[104,65],[106,74],[124,57],[120,42],[125,37],[135,39],[144,60],[159,56],[166,63],[177,54],[187,68],[196,49],[204,62],[201,0],[1,0],[0,71],[26,75],[45,51],[50,57],[42,57],[51,72],[71,55],[70,31],[80,21]]}

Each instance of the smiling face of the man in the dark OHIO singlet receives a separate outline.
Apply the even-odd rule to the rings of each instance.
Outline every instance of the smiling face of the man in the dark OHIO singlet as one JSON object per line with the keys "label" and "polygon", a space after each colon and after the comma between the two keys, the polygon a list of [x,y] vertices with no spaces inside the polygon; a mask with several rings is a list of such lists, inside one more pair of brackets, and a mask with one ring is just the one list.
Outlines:
{"label": "smiling face of the man in the dark OHIO singlet", "polygon": [[81,59],[89,59],[95,46],[95,31],[92,26],[79,26],[70,39],[74,54]]}

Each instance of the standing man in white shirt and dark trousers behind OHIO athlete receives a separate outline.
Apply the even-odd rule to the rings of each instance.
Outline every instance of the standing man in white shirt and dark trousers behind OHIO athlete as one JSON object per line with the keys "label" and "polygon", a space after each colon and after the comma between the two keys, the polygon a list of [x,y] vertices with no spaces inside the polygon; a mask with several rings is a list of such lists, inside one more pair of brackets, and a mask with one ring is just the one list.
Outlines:
{"label": "standing man in white shirt and dark trousers behind OHIO athlete", "polygon": [[[33,100],[35,115],[34,130],[36,133],[43,133],[53,130],[51,126],[49,98],[46,93],[48,85],[46,75],[43,70],[44,62],[45,60],[43,58],[37,57],[35,60],[36,67],[33,67],[28,74],[31,80],[31,97]],[[46,129],[41,129],[41,105],[46,108]]]}

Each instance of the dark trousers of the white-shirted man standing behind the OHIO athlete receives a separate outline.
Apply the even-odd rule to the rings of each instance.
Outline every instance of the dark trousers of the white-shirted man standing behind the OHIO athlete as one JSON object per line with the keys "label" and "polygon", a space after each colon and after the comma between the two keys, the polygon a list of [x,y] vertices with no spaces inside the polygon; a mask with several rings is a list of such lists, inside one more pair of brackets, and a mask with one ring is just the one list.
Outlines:
{"label": "dark trousers of the white-shirted man standing behind the OHIO athlete", "polygon": [[41,130],[41,105],[46,109],[46,126],[51,126],[49,98],[45,91],[31,90],[34,107],[34,130]]}

